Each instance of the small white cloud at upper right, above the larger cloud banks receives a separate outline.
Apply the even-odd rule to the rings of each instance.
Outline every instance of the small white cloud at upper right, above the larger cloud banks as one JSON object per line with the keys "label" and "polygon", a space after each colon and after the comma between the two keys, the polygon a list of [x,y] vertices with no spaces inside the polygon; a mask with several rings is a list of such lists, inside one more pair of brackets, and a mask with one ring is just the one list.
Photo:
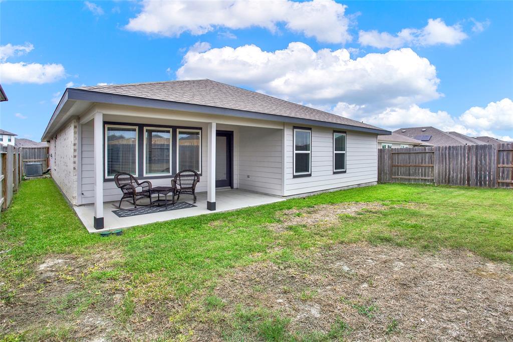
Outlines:
{"label": "small white cloud at upper right, above the larger cloud banks", "polygon": [[396,49],[402,46],[457,45],[468,35],[459,24],[447,26],[441,18],[429,19],[422,29],[406,28],[396,35],[388,32],[360,31],[358,42],[379,49]]}

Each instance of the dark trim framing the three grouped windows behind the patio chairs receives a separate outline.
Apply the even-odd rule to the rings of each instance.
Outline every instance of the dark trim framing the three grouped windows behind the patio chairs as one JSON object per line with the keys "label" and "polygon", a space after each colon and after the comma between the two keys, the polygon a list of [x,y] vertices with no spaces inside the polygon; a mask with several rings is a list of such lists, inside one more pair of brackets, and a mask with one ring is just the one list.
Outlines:
{"label": "dark trim framing the three grouped windows behind the patio chairs", "polygon": [[[106,126],[133,126],[137,127],[137,132],[144,132],[145,127],[151,127],[151,128],[169,128],[171,129],[172,137],[176,136],[178,129],[190,129],[190,130],[199,130],[201,131],[200,136],[202,137],[200,140],[200,144],[202,144],[203,148],[203,128],[202,127],[192,127],[192,126],[176,126],[176,125],[154,125],[154,124],[142,124],[142,123],[132,123],[132,122],[115,122],[115,121],[104,121],[103,123],[104,129],[103,129],[103,181],[104,182],[113,182],[113,177],[107,177],[107,171],[106,171]],[[176,146],[176,139],[172,139],[171,141],[171,167],[172,172],[170,175],[164,175],[164,176],[144,176],[144,170],[143,170],[143,159],[139,158],[139,156],[144,156],[144,137],[141,134],[137,135],[137,175],[134,175],[137,179],[144,179],[144,180],[151,180],[151,179],[171,179],[176,175],[176,169],[178,167],[176,161],[177,161],[177,146]],[[203,155],[200,154],[200,165],[203,166]],[[199,174],[200,176],[203,176],[202,173]]]}

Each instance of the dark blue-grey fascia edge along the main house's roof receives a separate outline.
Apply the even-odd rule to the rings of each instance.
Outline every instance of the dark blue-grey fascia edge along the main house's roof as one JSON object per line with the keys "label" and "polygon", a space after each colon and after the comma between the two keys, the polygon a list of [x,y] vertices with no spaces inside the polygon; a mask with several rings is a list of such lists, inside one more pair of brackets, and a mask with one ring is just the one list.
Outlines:
{"label": "dark blue-grey fascia edge along the main house's roof", "polygon": [[49,127],[55,118],[59,115],[64,103],[69,100],[75,101],[88,101],[95,103],[108,103],[108,104],[116,104],[116,105],[127,105],[127,106],[136,106],[136,107],[149,107],[149,108],[159,108],[159,109],[170,109],[170,110],[180,110],[180,111],[188,111],[188,112],[201,112],[206,114],[213,115],[227,115],[233,117],[243,117],[249,119],[260,119],[260,120],[269,120],[269,121],[280,121],[280,122],[288,122],[293,124],[307,124],[307,125],[315,125],[315,126],[324,126],[324,127],[332,127],[337,129],[347,129],[353,131],[361,131],[367,133],[373,133],[377,135],[391,135],[392,132],[385,129],[380,128],[369,128],[369,127],[360,127],[353,126],[347,124],[339,124],[318,120],[310,120],[310,119],[302,119],[302,118],[294,118],[294,117],[286,117],[279,116],[268,113],[261,112],[253,112],[247,110],[240,109],[232,109],[232,108],[224,108],[224,107],[215,107],[215,106],[207,106],[200,104],[191,104],[184,102],[174,102],[174,101],[165,101],[165,100],[156,100],[156,99],[147,99],[141,97],[133,97],[127,95],[120,94],[111,94],[105,92],[98,92],[93,90],[85,90],[85,89],[74,89],[68,88],[66,89],[61,101],[55,108],[55,111],[48,123],[48,126],[43,134],[42,141],[47,140],[46,136],[49,131]]}

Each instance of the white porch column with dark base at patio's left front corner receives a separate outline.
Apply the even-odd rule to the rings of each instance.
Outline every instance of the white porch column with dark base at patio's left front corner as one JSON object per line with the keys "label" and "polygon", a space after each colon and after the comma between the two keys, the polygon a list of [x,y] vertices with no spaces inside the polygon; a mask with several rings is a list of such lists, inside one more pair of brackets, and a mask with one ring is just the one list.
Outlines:
{"label": "white porch column with dark base at patio's left front corner", "polygon": [[94,228],[103,222],[103,113],[94,113]]}

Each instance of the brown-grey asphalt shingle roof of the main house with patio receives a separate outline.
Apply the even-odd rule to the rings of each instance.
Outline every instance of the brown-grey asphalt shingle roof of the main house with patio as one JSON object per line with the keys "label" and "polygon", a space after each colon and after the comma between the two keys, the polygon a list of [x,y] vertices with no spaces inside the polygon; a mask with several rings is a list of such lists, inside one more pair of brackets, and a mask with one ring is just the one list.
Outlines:
{"label": "brown-grey asphalt shingle roof of the main house with patio", "polygon": [[77,89],[381,129],[322,110],[212,80],[84,86],[77,87]]}

